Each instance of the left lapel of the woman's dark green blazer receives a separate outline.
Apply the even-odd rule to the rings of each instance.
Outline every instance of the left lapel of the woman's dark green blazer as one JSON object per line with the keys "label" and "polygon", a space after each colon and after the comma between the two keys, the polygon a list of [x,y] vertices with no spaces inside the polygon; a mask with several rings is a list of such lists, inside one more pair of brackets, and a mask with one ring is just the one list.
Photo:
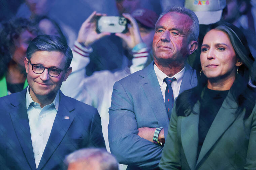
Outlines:
{"label": "left lapel of the woman's dark green blazer", "polygon": [[195,169],[198,146],[198,123],[200,113],[200,103],[197,101],[193,111],[189,116],[182,117],[181,120],[181,142],[190,169]]}

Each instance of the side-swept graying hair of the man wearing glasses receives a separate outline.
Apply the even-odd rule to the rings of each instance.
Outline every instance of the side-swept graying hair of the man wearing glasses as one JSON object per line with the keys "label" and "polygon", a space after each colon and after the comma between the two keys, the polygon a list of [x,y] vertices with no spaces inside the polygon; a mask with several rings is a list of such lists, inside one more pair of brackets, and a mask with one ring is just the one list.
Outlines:
{"label": "side-swept graying hair of the man wearing glasses", "polygon": [[28,46],[27,58],[30,60],[36,51],[59,51],[65,55],[65,68],[70,66],[73,58],[72,51],[66,40],[52,35],[40,35],[34,38]]}

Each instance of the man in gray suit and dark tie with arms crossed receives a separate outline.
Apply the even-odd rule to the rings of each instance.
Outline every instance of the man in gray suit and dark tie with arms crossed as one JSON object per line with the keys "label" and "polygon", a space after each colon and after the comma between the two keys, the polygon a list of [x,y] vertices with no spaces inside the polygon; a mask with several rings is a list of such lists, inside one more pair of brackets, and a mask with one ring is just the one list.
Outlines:
{"label": "man in gray suit and dark tie with arms crossed", "polygon": [[156,22],[154,61],[115,83],[109,108],[109,146],[127,169],[159,169],[173,100],[197,84],[186,59],[198,46],[198,34],[193,11],[170,8]]}

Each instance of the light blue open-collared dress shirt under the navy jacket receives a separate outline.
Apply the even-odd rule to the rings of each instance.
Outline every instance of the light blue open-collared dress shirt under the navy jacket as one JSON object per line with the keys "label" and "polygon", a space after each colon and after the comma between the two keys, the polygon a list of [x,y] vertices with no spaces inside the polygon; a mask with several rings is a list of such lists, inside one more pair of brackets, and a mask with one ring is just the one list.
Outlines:
{"label": "light blue open-collared dress shirt under the navy jacket", "polygon": [[59,108],[59,102],[60,95],[58,91],[54,101],[41,108],[38,103],[32,100],[29,94],[29,87],[27,88],[26,106],[36,168],[39,165],[49,139],[53,122]]}

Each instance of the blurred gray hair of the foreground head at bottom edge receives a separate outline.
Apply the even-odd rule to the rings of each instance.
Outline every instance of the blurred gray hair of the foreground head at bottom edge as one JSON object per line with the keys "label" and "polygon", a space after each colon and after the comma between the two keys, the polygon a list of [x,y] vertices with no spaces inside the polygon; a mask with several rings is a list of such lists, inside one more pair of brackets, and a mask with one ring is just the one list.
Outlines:
{"label": "blurred gray hair of the foreground head at bottom edge", "polygon": [[79,149],[66,156],[64,163],[68,166],[70,163],[78,161],[85,161],[89,164],[96,161],[97,164],[100,165],[101,170],[118,170],[118,162],[116,158],[104,149]]}

